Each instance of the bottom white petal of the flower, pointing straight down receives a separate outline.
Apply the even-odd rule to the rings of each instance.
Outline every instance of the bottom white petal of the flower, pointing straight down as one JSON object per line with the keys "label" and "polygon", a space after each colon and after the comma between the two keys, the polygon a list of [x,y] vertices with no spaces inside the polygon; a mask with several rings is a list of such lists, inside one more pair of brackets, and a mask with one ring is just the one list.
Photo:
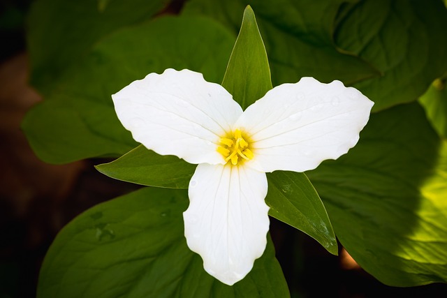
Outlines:
{"label": "bottom white petal of the flower, pointing straight down", "polygon": [[233,285],[261,257],[269,228],[265,173],[231,165],[198,165],[189,184],[184,234],[205,271]]}

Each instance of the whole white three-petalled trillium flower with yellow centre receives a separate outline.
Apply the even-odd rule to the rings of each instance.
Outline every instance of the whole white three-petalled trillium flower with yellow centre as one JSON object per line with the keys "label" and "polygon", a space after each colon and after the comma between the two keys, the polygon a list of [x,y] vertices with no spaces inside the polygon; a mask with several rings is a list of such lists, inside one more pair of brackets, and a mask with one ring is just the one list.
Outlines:
{"label": "whole white three-petalled trillium flower with yellow centre", "polygon": [[123,126],[147,149],[197,164],[184,235],[205,270],[233,285],[267,244],[266,172],[305,172],[353,147],[372,103],[342,82],[303,77],[245,111],[191,70],[151,73],[112,96]]}

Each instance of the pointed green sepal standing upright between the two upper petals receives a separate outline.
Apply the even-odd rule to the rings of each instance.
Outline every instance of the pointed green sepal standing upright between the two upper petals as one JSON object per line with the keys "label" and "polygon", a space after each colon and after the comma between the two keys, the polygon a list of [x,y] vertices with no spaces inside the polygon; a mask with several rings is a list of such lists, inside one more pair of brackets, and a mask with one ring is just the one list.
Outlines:
{"label": "pointed green sepal standing upright between the two upper petals", "polygon": [[267,53],[250,6],[244,10],[222,86],[244,110],[272,89]]}

